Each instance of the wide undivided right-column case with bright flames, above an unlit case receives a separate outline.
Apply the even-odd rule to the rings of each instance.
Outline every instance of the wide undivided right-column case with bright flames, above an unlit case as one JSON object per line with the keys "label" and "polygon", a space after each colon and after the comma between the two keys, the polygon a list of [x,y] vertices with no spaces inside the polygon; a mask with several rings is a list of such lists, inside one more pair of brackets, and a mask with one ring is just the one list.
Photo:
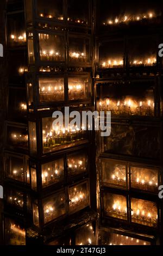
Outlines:
{"label": "wide undivided right-column case with bright flames, above an unlit case", "polygon": [[98,111],[114,116],[154,117],[155,80],[110,81],[97,84]]}

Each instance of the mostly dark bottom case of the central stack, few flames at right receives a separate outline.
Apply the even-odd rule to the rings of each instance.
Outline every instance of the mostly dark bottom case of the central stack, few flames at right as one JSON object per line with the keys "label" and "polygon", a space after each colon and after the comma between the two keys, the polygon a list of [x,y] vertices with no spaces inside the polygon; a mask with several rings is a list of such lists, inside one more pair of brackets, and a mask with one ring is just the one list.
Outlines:
{"label": "mostly dark bottom case of the central stack, few flames at right", "polygon": [[27,229],[27,245],[96,245],[98,214],[83,210],[78,214],[52,224],[42,232]]}

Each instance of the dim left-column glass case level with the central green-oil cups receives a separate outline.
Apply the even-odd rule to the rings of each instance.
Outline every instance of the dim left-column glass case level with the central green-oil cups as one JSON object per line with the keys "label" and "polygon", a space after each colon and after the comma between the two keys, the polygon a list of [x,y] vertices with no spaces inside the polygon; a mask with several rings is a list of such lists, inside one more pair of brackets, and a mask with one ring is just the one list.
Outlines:
{"label": "dim left-column glass case level with the central green-oil cups", "polygon": [[27,126],[18,123],[6,123],[5,144],[11,149],[28,150]]}

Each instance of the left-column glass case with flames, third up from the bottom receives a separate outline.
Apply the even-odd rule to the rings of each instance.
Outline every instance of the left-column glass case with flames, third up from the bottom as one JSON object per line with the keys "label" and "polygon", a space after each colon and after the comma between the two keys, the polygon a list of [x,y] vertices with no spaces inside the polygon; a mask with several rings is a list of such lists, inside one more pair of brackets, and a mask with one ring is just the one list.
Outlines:
{"label": "left-column glass case with flames, third up from the bottom", "polygon": [[5,178],[30,183],[28,156],[4,153]]}

